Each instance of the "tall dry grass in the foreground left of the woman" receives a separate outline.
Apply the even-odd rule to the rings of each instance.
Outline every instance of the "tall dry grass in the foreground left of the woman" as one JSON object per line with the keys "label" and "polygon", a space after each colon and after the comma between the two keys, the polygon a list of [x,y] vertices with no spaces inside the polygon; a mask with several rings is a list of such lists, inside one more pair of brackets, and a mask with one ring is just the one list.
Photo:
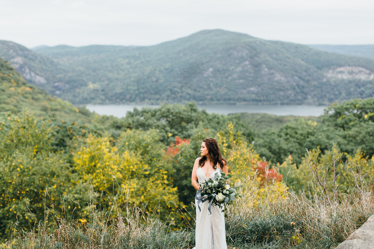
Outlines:
{"label": "tall dry grass in the foreground left of the woman", "polygon": [[[124,205],[117,203],[119,198]],[[10,234],[0,248],[190,248],[194,243],[191,230],[171,231],[174,220],[160,222],[156,212],[131,205],[129,193],[108,198],[105,207],[100,206],[102,199],[91,189],[88,221],[56,219],[53,210],[47,210],[46,222],[39,222],[31,232]],[[46,225],[50,222],[52,228]]]}

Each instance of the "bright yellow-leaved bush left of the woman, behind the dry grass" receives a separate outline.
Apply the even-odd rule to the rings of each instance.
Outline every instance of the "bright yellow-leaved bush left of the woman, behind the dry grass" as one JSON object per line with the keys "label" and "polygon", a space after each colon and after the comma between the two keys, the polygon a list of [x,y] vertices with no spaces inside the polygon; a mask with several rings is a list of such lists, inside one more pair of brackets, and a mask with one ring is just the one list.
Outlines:
{"label": "bright yellow-leaved bush left of the woman, behind the dry grass", "polygon": [[104,193],[105,201],[105,196],[114,193],[118,204],[147,205],[148,210],[161,210],[160,218],[167,218],[176,211],[171,202],[178,205],[177,188],[169,181],[165,150],[152,133],[129,130],[120,137],[119,147],[112,146],[107,137],[89,136],[74,155],[74,164],[94,191]]}

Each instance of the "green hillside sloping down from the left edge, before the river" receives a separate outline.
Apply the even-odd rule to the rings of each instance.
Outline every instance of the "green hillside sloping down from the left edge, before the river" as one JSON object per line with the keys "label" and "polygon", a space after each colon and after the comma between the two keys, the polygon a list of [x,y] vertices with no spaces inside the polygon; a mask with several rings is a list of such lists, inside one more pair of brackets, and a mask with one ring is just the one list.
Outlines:
{"label": "green hillside sloping down from the left edge, before the river", "polygon": [[45,90],[27,84],[21,75],[0,58],[0,113],[17,114],[27,109],[38,116],[55,114],[64,120],[90,122],[91,113],[84,107],[75,108],[71,103],[53,98]]}

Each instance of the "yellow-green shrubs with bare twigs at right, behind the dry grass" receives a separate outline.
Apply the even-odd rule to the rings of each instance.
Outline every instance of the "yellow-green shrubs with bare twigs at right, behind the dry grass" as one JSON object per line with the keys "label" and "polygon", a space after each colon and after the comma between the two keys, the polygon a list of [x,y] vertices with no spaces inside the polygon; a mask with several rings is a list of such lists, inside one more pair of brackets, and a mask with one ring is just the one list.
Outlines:
{"label": "yellow-green shrubs with bare twigs at right, behind the dry grass", "polygon": [[361,190],[372,184],[373,164],[374,159],[365,158],[360,150],[348,155],[334,144],[323,154],[319,149],[311,150],[298,167],[289,156],[278,168],[287,186],[295,192],[303,190],[307,195],[319,193],[338,199],[338,193]]}

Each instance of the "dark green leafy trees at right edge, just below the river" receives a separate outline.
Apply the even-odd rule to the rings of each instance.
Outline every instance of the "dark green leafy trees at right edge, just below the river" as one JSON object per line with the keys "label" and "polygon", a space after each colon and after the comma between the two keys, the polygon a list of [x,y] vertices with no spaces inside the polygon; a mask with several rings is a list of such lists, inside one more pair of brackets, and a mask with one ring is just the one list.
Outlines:
{"label": "dark green leafy trees at right edge, just below the river", "polygon": [[374,98],[353,99],[333,104],[320,117],[322,124],[300,119],[279,128],[257,134],[254,149],[274,163],[282,162],[292,155],[300,165],[305,157],[305,149],[319,147],[322,153],[338,148],[349,155],[360,150],[365,157],[374,153]]}

